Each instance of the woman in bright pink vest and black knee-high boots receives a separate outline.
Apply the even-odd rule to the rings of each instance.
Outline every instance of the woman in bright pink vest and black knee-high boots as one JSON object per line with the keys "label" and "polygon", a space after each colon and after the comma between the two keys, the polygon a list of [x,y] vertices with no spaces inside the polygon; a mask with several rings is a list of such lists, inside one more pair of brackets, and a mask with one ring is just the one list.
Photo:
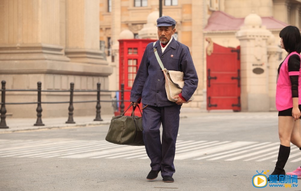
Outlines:
{"label": "woman in bright pink vest and black knee-high boots", "polygon": [[[278,113],[278,132],[280,148],[275,170],[269,179],[285,176],[284,166],[290,156],[290,142],[301,150],[300,110],[301,110],[301,36],[295,26],[287,26],[279,33],[281,48],[288,52],[278,68],[276,88],[276,108]],[[301,177],[301,168],[287,173]]]}

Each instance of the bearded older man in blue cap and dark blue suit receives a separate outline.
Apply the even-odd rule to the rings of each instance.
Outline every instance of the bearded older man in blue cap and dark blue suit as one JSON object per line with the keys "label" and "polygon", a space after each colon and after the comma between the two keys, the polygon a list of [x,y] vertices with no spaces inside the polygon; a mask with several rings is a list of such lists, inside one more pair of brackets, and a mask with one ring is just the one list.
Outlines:
{"label": "bearded older man in blue cap and dark blue suit", "polygon": [[[188,101],[197,88],[197,72],[187,46],[176,41],[175,20],[169,16],[157,20],[159,40],[147,45],[142,57],[131,91],[131,102],[136,105],[142,98],[143,140],[147,156],[151,159],[151,171],[147,180],[154,180],[161,171],[164,182],[174,182],[173,164],[175,158],[175,142],[178,135],[180,109]],[[176,102],[167,99],[165,78],[154,48],[167,70],[184,73],[182,93],[173,97]],[[163,126],[162,143],[160,126]]]}

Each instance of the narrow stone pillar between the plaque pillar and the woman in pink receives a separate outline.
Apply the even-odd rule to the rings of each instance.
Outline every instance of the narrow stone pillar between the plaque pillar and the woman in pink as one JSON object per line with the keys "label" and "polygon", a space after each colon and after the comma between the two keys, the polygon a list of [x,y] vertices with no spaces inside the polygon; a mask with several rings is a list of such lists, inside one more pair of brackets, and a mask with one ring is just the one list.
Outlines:
{"label": "narrow stone pillar between the plaque pillar and the woman in pink", "polygon": [[275,104],[275,95],[276,95],[276,79],[278,73],[278,66],[280,64],[279,58],[281,56],[281,48],[275,45],[275,37],[271,35],[268,39],[268,95],[269,95],[269,102],[270,102],[270,111],[277,111],[276,104]]}

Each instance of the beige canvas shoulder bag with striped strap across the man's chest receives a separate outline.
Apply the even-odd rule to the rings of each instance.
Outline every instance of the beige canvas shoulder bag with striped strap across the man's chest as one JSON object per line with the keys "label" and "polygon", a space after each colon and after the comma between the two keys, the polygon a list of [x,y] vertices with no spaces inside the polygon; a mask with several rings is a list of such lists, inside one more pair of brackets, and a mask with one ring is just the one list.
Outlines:
{"label": "beige canvas shoulder bag with striped strap across the man's chest", "polygon": [[[156,42],[154,42],[153,46],[155,46],[155,44]],[[178,99],[173,99],[173,97],[182,92],[182,89],[184,87],[184,73],[181,71],[167,70],[166,68],[164,68],[163,63],[158,55],[157,48],[155,47],[154,53],[165,77],[165,90],[167,99],[172,102],[177,102]],[[191,98],[185,103],[191,102],[192,100],[194,100],[194,96],[191,96]]]}

